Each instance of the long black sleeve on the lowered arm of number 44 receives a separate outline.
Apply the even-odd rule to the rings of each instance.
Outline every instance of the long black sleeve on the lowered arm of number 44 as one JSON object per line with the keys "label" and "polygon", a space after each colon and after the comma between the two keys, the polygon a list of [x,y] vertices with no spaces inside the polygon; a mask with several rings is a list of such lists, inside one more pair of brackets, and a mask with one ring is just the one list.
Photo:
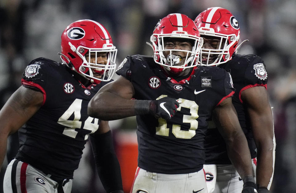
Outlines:
{"label": "long black sleeve on the lowered arm of number 44", "polygon": [[90,135],[90,142],[97,171],[106,192],[123,190],[120,165],[113,147],[111,131]]}

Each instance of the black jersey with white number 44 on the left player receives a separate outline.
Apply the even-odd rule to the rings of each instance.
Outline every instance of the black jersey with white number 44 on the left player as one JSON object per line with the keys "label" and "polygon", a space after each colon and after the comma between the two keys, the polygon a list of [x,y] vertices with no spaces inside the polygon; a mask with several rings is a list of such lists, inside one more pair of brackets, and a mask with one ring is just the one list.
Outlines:
{"label": "black jersey with white number 44 on the left player", "polygon": [[72,178],[88,135],[100,124],[88,116],[88,102],[106,83],[85,88],[66,65],[46,58],[33,60],[23,73],[22,84],[42,92],[43,105],[19,129],[16,158],[46,174]]}

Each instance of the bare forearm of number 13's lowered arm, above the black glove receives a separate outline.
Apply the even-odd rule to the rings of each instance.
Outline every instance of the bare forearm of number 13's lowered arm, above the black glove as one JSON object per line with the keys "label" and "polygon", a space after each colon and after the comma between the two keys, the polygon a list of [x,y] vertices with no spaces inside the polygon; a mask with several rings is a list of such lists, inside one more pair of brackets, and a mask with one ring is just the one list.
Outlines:
{"label": "bare forearm of number 13's lowered arm, above the black glove", "polygon": [[227,142],[227,151],[229,159],[241,178],[249,175],[253,176],[250,150],[242,132],[237,133],[232,140]]}

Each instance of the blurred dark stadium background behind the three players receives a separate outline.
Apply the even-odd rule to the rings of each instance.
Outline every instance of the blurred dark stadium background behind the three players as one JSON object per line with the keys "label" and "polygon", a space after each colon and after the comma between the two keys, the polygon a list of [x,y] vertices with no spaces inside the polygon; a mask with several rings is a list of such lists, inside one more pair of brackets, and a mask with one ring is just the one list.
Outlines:
{"label": "blurred dark stadium background behind the three players", "polygon": [[[296,1],[295,0],[0,0],[0,105],[21,85],[23,70],[38,57],[60,61],[60,36],[79,19],[103,24],[117,47],[117,64],[127,55],[152,55],[146,42],[159,19],[169,13],[193,20],[208,7],[232,12],[240,24],[239,54],[259,55],[268,72],[276,136],[275,171],[271,193],[296,189]],[[241,42],[240,41],[240,42]],[[116,79],[114,75],[113,79]],[[129,192],[137,167],[135,117],[110,121],[121,164],[124,191]],[[17,135],[9,137],[0,174],[0,192],[7,164],[18,149]],[[104,193],[98,183],[89,144],[86,144],[73,193]]]}

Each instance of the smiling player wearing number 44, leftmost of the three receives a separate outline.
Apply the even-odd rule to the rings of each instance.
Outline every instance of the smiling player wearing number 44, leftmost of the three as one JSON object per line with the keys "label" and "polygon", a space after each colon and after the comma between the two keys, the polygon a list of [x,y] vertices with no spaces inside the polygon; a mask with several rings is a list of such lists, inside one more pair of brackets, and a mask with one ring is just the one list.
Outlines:
{"label": "smiling player wearing number 44, leftmost of the three", "polygon": [[123,193],[108,121],[87,114],[92,96],[111,81],[116,54],[103,25],[79,20],[62,33],[62,63],[47,58],[31,61],[22,86],[0,111],[1,165],[7,137],[19,131],[20,145],[7,166],[4,192],[70,193],[73,172],[90,139],[105,190]]}

